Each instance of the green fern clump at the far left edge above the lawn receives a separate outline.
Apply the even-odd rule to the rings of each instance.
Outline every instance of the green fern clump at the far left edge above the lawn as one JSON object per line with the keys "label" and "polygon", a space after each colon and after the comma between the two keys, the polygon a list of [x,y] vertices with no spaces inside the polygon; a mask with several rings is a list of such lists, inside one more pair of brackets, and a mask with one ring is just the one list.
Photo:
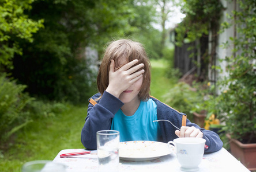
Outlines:
{"label": "green fern clump at the far left edge above the lawn", "polygon": [[25,124],[31,122],[29,113],[21,113],[25,105],[33,100],[22,93],[25,85],[16,84],[0,75],[0,140],[6,140]]}

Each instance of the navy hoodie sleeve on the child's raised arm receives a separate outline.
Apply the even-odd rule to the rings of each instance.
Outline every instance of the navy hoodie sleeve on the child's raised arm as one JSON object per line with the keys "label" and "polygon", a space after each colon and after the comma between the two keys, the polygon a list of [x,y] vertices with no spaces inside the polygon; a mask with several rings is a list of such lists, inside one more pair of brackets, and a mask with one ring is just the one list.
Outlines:
{"label": "navy hoodie sleeve on the child's raised arm", "polygon": [[95,150],[96,132],[100,130],[110,130],[112,118],[122,107],[121,100],[104,92],[99,103],[93,105],[89,103],[85,124],[81,131],[81,142],[88,150]]}

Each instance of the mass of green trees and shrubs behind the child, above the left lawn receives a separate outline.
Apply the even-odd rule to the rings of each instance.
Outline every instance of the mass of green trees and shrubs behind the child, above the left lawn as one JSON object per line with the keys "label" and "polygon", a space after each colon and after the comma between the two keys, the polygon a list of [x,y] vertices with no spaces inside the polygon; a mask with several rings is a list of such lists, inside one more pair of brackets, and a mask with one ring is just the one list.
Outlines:
{"label": "mass of green trees and shrubs behind the child, above the left lawn", "polygon": [[155,15],[141,0],[0,0],[0,152],[34,119],[87,103],[97,73],[86,47],[100,60],[107,42],[131,38],[159,58]]}

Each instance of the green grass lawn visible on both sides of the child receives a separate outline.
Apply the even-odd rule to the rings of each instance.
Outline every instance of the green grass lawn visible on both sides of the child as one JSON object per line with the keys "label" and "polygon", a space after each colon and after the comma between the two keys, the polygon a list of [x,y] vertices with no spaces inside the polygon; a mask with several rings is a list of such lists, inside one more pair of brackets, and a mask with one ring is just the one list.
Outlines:
{"label": "green grass lawn visible on both sides of the child", "polygon": [[[161,100],[176,81],[165,78],[163,60],[152,62],[151,95]],[[84,126],[86,108],[70,107],[69,111],[45,119],[37,119],[18,132],[10,149],[0,154],[0,171],[20,171],[28,161],[39,159],[52,160],[59,151],[66,148],[84,148],[80,141]]]}

